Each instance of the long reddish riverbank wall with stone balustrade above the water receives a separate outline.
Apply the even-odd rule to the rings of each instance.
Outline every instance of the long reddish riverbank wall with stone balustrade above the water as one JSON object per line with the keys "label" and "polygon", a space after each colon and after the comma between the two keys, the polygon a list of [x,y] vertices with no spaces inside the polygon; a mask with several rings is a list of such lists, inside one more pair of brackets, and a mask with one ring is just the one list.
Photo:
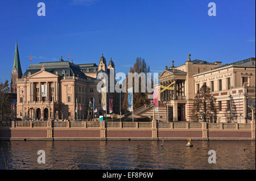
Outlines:
{"label": "long reddish riverbank wall with stone balustrade above the water", "polygon": [[255,122],[0,121],[0,140],[255,140]]}

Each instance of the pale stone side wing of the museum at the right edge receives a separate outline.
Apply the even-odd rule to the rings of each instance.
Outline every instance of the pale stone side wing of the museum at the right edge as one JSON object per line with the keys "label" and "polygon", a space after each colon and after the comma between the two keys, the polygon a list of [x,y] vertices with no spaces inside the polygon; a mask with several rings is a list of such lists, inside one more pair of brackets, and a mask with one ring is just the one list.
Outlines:
{"label": "pale stone side wing of the museum at the right edge", "polygon": [[206,84],[217,98],[218,123],[250,123],[251,109],[255,117],[255,58],[217,66],[193,78],[195,92]]}

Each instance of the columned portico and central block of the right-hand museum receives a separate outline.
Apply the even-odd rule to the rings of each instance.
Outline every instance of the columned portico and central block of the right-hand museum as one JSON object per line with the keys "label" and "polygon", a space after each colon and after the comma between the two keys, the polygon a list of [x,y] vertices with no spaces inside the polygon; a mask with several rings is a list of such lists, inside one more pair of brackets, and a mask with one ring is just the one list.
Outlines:
{"label": "columned portico and central block of the right-hand museum", "polygon": [[193,75],[210,71],[221,65],[221,62],[207,62],[203,60],[192,60],[188,54],[188,60],[181,66],[174,66],[171,61],[170,67],[159,75],[160,85],[171,87],[174,90],[165,90],[160,93],[159,106],[167,107],[168,121],[191,121],[191,111],[193,109],[193,99],[195,96],[195,83]]}

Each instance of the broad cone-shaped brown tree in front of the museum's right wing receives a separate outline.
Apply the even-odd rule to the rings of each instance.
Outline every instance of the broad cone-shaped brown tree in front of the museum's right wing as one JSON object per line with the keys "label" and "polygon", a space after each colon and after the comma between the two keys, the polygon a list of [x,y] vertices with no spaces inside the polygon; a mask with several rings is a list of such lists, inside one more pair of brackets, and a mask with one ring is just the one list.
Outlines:
{"label": "broad cone-shaped brown tree in front of the museum's right wing", "polygon": [[210,87],[203,85],[195,96],[193,103],[192,120],[199,121],[202,117],[203,121],[217,120],[216,98],[210,93]]}

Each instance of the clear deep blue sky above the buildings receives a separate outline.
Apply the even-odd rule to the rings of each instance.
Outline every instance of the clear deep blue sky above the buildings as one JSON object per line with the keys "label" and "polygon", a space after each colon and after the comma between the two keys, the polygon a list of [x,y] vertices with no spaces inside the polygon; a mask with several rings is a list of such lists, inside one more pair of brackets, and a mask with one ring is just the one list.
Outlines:
{"label": "clear deep blue sky above the buildings", "polygon": [[[46,4],[38,16],[37,4]],[[208,3],[217,16],[208,16]],[[224,63],[255,57],[255,0],[5,0],[0,4],[0,82],[10,80],[15,40],[22,71],[32,63],[75,64],[112,57],[127,73],[136,57],[151,71],[192,60]]]}

